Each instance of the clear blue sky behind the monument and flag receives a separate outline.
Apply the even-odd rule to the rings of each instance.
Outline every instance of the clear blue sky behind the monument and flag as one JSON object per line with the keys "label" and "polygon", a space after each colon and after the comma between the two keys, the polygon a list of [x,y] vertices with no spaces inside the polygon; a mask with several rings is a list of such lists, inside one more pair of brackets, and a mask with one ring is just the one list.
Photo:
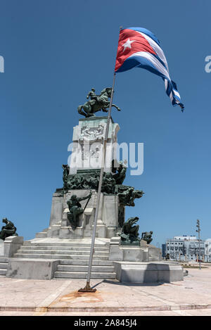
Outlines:
{"label": "clear blue sky behind the monument and flag", "polygon": [[195,234],[197,218],[210,238],[210,1],[1,0],[0,11],[0,217],[24,239],[49,226],[77,106],[112,84],[119,28],[137,26],[160,40],[186,109],[172,107],[151,72],[117,75],[118,141],[144,144],[144,172],[125,184],[145,195],[127,217],[139,216],[155,245]]}

